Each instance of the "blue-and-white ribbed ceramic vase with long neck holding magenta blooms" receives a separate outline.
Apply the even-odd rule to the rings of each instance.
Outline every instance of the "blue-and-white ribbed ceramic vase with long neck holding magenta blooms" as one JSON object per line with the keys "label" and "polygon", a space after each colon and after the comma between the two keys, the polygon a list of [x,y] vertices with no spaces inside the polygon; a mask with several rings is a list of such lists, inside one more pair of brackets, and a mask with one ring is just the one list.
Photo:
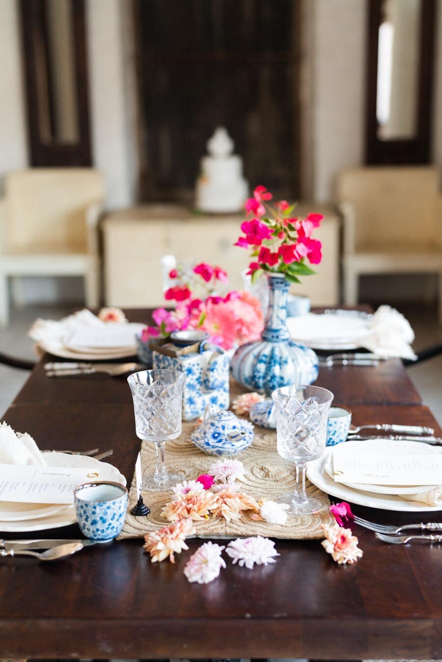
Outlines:
{"label": "blue-and-white ribbed ceramic vase with long neck holding magenta blooms", "polygon": [[261,340],[241,346],[231,361],[233,377],[250,391],[270,395],[292,384],[309,385],[317,379],[313,350],[290,340],[286,326],[290,283],[282,273],[268,274],[270,301]]}

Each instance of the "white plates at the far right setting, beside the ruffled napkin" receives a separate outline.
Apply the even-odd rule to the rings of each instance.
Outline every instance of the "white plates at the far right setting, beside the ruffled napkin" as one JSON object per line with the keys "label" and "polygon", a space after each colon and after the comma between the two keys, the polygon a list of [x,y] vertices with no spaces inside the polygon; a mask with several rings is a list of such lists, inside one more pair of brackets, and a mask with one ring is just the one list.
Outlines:
{"label": "white plates at the far right setting, beside the ruffled napkin", "polygon": [[356,350],[370,328],[370,316],[357,310],[336,310],[287,318],[292,340],[313,350]]}

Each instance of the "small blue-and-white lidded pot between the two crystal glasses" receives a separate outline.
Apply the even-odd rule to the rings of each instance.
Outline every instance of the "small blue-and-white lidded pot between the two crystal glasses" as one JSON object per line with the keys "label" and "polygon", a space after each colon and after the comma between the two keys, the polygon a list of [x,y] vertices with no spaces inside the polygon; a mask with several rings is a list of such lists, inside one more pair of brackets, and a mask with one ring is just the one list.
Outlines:
{"label": "small blue-and-white lidded pot between the two crystal glasses", "polygon": [[250,421],[209,405],[205,409],[203,422],[190,438],[197,448],[208,455],[236,455],[250,446],[253,436]]}

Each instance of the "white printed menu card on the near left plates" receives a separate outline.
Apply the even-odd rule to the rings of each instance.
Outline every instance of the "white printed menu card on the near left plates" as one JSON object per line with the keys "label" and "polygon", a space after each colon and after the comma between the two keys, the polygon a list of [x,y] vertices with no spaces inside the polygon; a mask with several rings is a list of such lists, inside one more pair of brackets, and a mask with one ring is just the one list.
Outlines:
{"label": "white printed menu card on the near left plates", "polygon": [[99,470],[95,467],[0,464],[0,501],[74,503],[74,489],[98,478]]}

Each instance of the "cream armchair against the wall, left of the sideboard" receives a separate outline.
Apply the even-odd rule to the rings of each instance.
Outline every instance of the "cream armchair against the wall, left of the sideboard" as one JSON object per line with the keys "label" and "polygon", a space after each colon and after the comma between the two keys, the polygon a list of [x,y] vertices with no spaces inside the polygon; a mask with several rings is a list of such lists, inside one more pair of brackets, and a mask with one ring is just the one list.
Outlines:
{"label": "cream armchair against the wall, left of the sideboard", "polygon": [[9,320],[8,278],[82,276],[85,303],[99,305],[97,222],[105,199],[93,168],[11,172],[0,203],[0,326]]}

